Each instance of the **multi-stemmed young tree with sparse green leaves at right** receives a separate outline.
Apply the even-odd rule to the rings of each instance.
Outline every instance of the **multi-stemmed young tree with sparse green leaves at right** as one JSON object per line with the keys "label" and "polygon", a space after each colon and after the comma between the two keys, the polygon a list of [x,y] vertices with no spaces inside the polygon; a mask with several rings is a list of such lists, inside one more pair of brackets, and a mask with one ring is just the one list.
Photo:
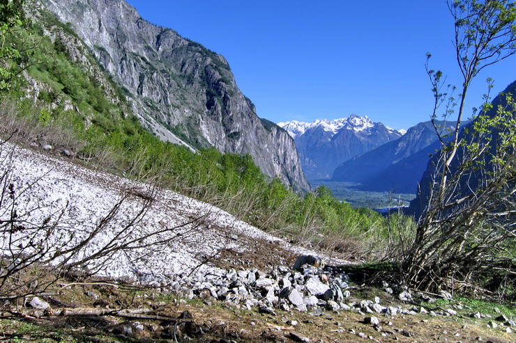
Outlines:
{"label": "multi-stemmed young tree with sparse green leaves at right", "polygon": [[[422,185],[427,187],[420,192],[426,206],[403,262],[409,284],[423,290],[439,289],[453,278],[467,281],[474,269],[500,264],[515,253],[510,245],[516,237],[513,97],[502,95],[493,106],[488,94],[482,111],[473,109],[473,124],[464,132],[462,122],[473,79],[485,67],[516,54],[516,5],[511,0],[449,0],[448,8],[455,20],[463,83],[455,99],[455,87],[445,86],[443,73],[427,67],[441,150],[432,159],[429,182]],[[449,133],[435,121],[441,105],[445,119],[458,106]]]}

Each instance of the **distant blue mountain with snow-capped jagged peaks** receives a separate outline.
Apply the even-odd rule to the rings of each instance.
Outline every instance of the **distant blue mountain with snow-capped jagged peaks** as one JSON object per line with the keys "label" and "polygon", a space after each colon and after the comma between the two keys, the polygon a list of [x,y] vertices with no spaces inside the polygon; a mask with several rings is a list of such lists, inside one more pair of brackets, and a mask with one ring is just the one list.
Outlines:
{"label": "distant blue mountain with snow-capped jagged peaks", "polygon": [[327,179],[340,163],[402,136],[381,122],[358,115],[312,123],[280,122],[278,125],[294,137],[309,180]]}

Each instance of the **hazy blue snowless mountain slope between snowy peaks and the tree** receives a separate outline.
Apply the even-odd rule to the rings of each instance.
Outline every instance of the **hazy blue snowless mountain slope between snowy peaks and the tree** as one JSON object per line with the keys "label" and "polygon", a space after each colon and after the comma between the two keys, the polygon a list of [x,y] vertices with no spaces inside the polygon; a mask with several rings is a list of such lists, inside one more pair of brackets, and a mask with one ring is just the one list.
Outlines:
{"label": "hazy blue snowless mountain slope between snowy peaks and the tree", "polygon": [[416,193],[428,156],[437,148],[432,123],[420,122],[396,141],[342,163],[335,169],[332,180],[358,182],[369,191]]}

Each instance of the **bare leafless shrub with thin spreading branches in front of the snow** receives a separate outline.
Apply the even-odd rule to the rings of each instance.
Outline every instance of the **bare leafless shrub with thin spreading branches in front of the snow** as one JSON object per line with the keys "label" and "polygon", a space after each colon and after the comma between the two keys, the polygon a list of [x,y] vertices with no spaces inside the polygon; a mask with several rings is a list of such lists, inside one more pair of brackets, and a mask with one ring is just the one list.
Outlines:
{"label": "bare leafless shrub with thin spreading branches in front of the snow", "polygon": [[[66,219],[70,204],[60,208],[21,206],[22,196],[41,179],[17,188],[13,182],[13,145],[0,145],[0,297],[40,294],[70,271],[99,273],[114,259],[141,260],[175,241],[188,239],[206,226],[210,212],[181,223],[145,230],[145,220],[158,194],[156,186],[126,189],[119,200],[91,223]],[[40,212],[46,215],[41,216]],[[129,254],[129,255],[128,255]],[[37,268],[36,268],[37,266]]]}

